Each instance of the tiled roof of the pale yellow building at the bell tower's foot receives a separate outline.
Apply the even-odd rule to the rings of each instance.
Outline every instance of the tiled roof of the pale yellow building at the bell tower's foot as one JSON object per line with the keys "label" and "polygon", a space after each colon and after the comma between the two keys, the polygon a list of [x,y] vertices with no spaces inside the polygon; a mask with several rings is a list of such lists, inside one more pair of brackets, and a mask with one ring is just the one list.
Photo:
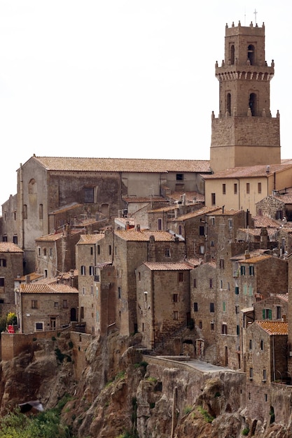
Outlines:
{"label": "tiled roof of the pale yellow building at the bell tower's foot", "polygon": [[267,166],[248,166],[234,167],[217,172],[212,175],[204,175],[204,179],[221,179],[221,178],[257,178],[258,176],[272,176],[275,172],[284,171],[292,167],[292,164],[271,164],[270,172],[267,173]]}

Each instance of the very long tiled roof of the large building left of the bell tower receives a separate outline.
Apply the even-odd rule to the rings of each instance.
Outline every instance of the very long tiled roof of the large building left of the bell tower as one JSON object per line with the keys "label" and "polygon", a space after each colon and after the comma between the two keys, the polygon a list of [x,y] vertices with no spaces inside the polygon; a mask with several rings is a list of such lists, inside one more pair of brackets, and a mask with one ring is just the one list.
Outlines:
{"label": "very long tiled roof of the large building left of the bell tower", "polygon": [[43,167],[51,171],[99,172],[209,172],[209,160],[157,160],[145,158],[84,158],[36,157]]}

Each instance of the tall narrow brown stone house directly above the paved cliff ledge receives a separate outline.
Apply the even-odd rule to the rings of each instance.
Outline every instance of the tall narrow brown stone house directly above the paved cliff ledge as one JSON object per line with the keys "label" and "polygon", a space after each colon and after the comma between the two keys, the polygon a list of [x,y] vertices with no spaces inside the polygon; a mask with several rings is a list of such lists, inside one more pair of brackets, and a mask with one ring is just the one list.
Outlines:
{"label": "tall narrow brown stone house directly above the paved cliff ledge", "polygon": [[185,262],[144,262],[136,269],[137,329],[142,345],[181,354],[174,345],[179,330],[190,323],[190,269]]}

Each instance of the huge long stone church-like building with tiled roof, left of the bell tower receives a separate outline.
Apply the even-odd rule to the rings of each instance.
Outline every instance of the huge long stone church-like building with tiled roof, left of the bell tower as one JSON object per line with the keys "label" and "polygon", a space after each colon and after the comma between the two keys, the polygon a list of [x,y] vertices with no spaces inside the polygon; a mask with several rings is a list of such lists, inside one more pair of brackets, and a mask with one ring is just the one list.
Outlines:
{"label": "huge long stone church-like building with tiled roof, left of the bell tower", "polygon": [[[4,203],[3,234],[24,250],[26,273],[34,271],[34,241],[78,215],[113,225],[124,197],[161,197],[170,191],[204,192],[209,161],[31,157],[18,169],[16,201]],[[81,213],[82,212],[82,213]],[[16,221],[16,224],[11,224]],[[16,230],[16,234],[15,234]]]}

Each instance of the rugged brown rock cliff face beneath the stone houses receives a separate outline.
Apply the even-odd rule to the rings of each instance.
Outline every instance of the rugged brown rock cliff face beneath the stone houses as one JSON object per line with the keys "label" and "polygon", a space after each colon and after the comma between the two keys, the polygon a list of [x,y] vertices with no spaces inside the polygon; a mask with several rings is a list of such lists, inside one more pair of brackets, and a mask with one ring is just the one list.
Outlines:
{"label": "rugged brown rock cliff face beneath the stone houses", "polygon": [[292,437],[291,424],[246,418],[236,374],[198,374],[179,362],[145,361],[139,334],[93,339],[81,379],[74,374],[69,335],[38,341],[32,353],[1,362],[1,415],[27,400],[55,407],[70,400],[62,419],[80,438]]}

